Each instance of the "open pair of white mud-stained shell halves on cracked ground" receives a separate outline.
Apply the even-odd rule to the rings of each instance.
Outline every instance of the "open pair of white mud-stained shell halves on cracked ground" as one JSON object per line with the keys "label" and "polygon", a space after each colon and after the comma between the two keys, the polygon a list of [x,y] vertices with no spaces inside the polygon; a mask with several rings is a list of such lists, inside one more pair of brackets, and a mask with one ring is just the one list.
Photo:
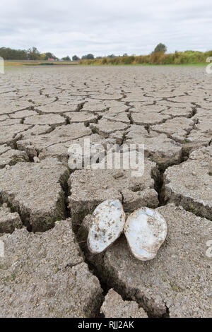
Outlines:
{"label": "open pair of white mud-stained shell halves on cracked ground", "polygon": [[131,253],[141,261],[153,259],[167,235],[167,223],[151,208],[139,208],[126,219],[122,203],[108,199],[93,212],[88,233],[88,249],[100,254],[122,234],[126,236]]}

